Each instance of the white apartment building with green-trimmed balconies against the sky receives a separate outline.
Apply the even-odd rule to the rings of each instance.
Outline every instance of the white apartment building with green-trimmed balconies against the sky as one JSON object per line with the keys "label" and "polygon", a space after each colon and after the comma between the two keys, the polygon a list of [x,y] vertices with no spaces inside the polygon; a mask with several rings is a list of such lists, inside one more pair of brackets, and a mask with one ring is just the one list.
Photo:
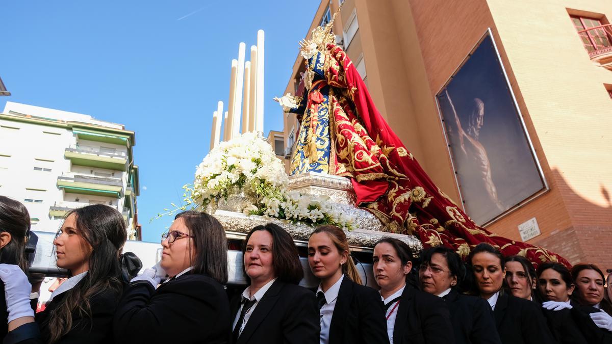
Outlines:
{"label": "white apartment building with green-trimmed balconies against the sky", "polygon": [[134,132],[86,114],[7,102],[0,113],[0,195],[26,205],[32,230],[55,232],[66,212],[106,204],[140,239]]}

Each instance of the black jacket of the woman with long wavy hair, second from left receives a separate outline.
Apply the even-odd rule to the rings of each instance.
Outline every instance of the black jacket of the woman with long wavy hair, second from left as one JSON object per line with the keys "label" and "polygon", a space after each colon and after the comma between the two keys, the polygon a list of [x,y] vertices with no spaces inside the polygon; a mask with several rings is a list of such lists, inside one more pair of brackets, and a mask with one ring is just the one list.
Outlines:
{"label": "black jacket of the woman with long wavy hair, second from left", "polygon": [[[81,282],[80,282],[81,283]],[[78,284],[77,284],[78,286]],[[43,312],[36,313],[35,323],[24,324],[6,336],[4,344],[42,344],[47,343],[49,328],[48,317],[52,316],[53,310],[59,307],[60,302],[67,292],[54,297]],[[121,293],[113,290],[104,290],[91,297],[91,318],[88,316],[72,315],[72,329],[65,334],[58,343],[81,344],[81,343],[114,343],[113,341],[113,316],[117,308],[117,302]],[[40,332],[39,332],[40,331]],[[25,340],[20,340],[26,338]]]}

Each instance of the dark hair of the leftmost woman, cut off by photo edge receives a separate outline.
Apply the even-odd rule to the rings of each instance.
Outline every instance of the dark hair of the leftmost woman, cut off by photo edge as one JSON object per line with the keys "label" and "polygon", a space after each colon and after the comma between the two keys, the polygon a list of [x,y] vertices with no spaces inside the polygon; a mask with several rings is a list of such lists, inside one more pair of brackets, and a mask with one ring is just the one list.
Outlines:
{"label": "dark hair of the leftmost woman, cut off by photo edge", "polygon": [[30,214],[18,201],[0,196],[0,231],[10,234],[10,242],[0,249],[0,263],[16,264],[28,273],[26,238],[30,231]]}

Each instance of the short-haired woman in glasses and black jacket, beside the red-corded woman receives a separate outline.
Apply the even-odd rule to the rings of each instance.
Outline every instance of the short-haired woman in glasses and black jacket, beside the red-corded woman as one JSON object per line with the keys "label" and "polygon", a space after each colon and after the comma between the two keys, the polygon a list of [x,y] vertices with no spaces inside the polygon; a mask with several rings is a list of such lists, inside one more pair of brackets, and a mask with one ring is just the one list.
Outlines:
{"label": "short-haired woman in glasses and black jacket, beside the red-corded woman", "polygon": [[421,290],[446,301],[455,333],[455,343],[501,344],[493,312],[487,301],[461,294],[458,290],[465,274],[465,266],[461,263],[460,256],[452,249],[436,246],[421,253]]}

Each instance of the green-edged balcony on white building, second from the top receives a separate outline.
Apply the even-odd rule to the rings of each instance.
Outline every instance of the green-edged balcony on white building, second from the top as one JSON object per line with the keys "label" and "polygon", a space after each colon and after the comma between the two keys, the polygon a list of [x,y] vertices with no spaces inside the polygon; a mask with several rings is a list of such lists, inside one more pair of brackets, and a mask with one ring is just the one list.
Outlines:
{"label": "green-edged balcony on white building, second from the top", "polygon": [[123,183],[119,178],[99,177],[73,172],[64,172],[58,177],[58,188],[70,193],[113,198],[121,197],[124,191]]}

